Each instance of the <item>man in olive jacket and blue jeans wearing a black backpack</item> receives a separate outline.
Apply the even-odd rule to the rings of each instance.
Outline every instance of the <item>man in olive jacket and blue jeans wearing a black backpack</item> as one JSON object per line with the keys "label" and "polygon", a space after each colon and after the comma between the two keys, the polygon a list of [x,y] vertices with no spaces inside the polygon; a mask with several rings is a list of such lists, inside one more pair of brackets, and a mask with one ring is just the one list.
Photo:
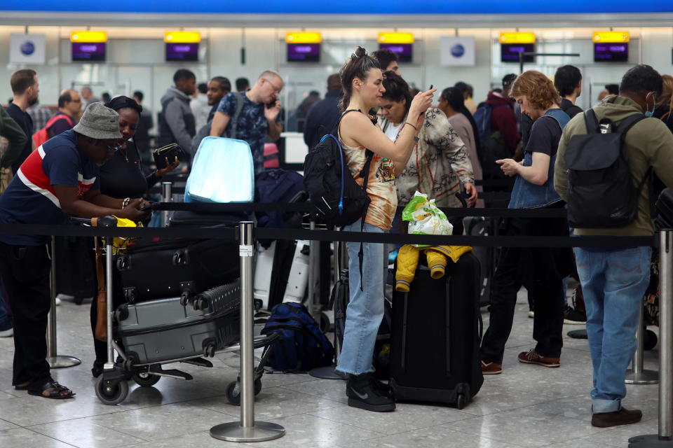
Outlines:
{"label": "man in olive jacket and blue jeans wearing a black backpack", "polygon": [[[554,185],[568,202],[568,220],[576,235],[653,235],[647,179],[653,170],[673,187],[673,134],[661,120],[646,118],[653,115],[661,91],[662,77],[655,69],[634,66],[622,78],[618,95],[606,97],[566,126]],[[591,157],[596,152],[600,158]],[[606,167],[606,160],[611,165]],[[606,189],[615,193],[606,194]],[[651,248],[574,251],[594,369],[591,424],[606,428],[636,423],[642,412],[627,410],[621,402],[626,396],[626,369],[636,348]]]}

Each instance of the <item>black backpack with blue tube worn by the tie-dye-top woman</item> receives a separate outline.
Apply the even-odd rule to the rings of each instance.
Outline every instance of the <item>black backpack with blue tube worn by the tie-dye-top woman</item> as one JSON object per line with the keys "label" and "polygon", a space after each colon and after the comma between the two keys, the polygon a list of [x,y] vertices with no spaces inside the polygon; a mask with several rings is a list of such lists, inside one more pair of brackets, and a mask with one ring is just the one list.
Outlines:
{"label": "black backpack with blue tube worn by the tie-dye-top woman", "polygon": [[[341,114],[359,109],[351,109]],[[339,139],[335,137],[339,123],[332,131],[322,137],[306,155],[304,159],[304,187],[308,192],[311,204],[318,211],[318,216],[328,225],[343,227],[362,218],[365,224],[369,196],[367,196],[367,180],[369,179],[369,165],[374,153],[367,150],[367,161],[362,167],[360,177],[364,178],[362,187],[355,182],[348,169],[348,163],[341,148]]]}

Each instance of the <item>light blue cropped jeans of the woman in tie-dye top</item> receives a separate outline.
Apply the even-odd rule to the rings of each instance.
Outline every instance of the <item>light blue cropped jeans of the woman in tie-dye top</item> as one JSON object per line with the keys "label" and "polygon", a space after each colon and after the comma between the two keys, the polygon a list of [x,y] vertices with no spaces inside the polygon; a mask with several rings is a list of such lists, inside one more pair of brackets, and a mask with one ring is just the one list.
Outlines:
{"label": "light blue cropped jeans of the woman in tie-dye top", "polygon": [[[344,227],[346,232],[360,232],[360,221]],[[365,232],[383,233],[375,225],[365,223]],[[348,288],[351,301],[346,309],[344,344],[341,346],[337,370],[350,374],[372,372],[374,343],[383,319],[383,248],[384,244],[365,243],[362,251],[362,290],[360,290],[360,243],[347,242]]]}

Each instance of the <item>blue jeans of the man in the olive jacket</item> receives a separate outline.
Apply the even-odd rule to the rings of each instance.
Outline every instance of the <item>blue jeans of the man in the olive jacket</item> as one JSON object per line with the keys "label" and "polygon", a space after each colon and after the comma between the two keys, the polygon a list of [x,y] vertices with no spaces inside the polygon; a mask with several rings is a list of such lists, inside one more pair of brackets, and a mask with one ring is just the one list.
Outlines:
{"label": "blue jeans of the man in the olive jacket", "polygon": [[618,411],[626,396],[624,379],[636,349],[651,254],[649,247],[600,252],[575,248],[594,367],[594,413]]}

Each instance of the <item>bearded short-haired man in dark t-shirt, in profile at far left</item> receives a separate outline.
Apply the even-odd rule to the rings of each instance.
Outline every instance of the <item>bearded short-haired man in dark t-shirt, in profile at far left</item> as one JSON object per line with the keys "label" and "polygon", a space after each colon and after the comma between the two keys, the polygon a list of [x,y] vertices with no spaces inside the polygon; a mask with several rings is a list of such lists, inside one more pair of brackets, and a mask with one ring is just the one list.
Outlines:
{"label": "bearded short-haired man in dark t-shirt, in profile at far left", "polygon": [[12,164],[12,172],[16,174],[24,160],[32,151],[33,120],[30,118],[26,109],[37,102],[40,93],[40,85],[37,80],[37,73],[32,69],[23,69],[15,71],[9,80],[14,97],[12,104],[7,108],[7,113],[25,132],[28,140],[23,151]]}

